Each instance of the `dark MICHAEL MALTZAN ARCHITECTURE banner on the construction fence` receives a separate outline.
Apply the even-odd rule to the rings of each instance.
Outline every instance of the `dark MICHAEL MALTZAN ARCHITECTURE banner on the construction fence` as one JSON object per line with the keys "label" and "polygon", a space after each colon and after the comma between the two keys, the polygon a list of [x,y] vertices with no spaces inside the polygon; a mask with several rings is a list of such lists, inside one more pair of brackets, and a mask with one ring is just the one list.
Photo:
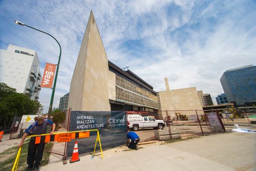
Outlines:
{"label": "dark MICHAEL MALTZAN ARCHITECTURE banner on the construction fence", "polygon": [[[125,112],[72,111],[69,131],[97,129],[102,148],[110,148],[126,143],[127,122]],[[78,140],[78,153],[89,153],[94,150],[96,133],[89,138]],[[68,143],[67,157],[72,156],[74,140]]]}

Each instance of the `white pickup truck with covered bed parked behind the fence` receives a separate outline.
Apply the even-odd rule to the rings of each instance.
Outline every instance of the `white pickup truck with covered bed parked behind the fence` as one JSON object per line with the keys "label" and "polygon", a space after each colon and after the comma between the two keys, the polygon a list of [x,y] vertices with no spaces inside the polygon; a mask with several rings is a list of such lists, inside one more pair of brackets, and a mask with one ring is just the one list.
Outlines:
{"label": "white pickup truck with covered bed parked behind the fence", "polygon": [[133,131],[137,131],[140,128],[152,127],[154,129],[163,129],[164,121],[156,120],[152,117],[141,115],[127,115],[127,126]]}

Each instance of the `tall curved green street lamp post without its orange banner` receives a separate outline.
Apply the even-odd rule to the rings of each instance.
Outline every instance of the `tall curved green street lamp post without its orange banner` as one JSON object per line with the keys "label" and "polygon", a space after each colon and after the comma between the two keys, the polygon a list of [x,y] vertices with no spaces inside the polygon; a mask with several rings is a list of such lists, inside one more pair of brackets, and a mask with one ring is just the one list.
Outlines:
{"label": "tall curved green street lamp post without its orange banner", "polygon": [[[44,31],[41,31],[41,30],[35,29],[35,28],[31,27],[31,26],[25,25],[24,23],[20,23],[20,22],[17,21],[17,20],[14,20],[14,22],[15,22],[17,25],[20,25],[20,26],[27,26],[27,27],[29,27],[29,28],[31,28],[31,29],[34,29],[34,30],[37,30],[37,31],[39,31],[39,32],[45,33],[45,34],[51,36],[52,38],[54,38],[54,40],[56,40],[55,37],[53,37],[51,34],[48,34],[48,33],[44,32]],[[57,41],[57,40],[56,40],[56,41]],[[59,42],[58,42],[58,41],[57,41],[57,43],[58,43],[58,45],[59,45]],[[59,62],[60,62],[60,57],[61,57],[61,47],[60,47],[60,45],[59,45],[59,50],[60,50],[60,51],[59,51],[59,60],[58,60],[58,64],[57,64],[57,68],[56,68],[56,75],[55,75],[55,79],[54,79],[54,83],[53,83],[53,88],[52,88],[52,96],[51,96],[51,101],[50,101],[50,105],[49,105],[48,117],[47,117],[48,119],[51,118],[51,114],[52,114],[52,104],[53,104],[53,98],[54,98],[54,93],[55,93],[55,87],[56,87],[56,82],[57,82],[57,77],[58,77]]]}

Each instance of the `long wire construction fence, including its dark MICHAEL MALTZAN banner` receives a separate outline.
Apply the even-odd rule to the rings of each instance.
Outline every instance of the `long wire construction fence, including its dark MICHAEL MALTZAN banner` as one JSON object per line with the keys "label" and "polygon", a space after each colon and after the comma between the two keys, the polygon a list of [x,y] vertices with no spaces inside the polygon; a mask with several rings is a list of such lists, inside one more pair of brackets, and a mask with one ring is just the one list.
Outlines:
{"label": "long wire construction fence, including its dark MICHAEL MALTZAN banner", "polygon": [[[201,136],[226,131],[224,125],[250,124],[256,118],[248,116],[231,117],[227,113],[219,113],[218,111],[203,110],[176,110],[176,111],[156,111],[156,112],[91,112],[91,111],[65,111],[69,116],[67,132],[98,130],[101,140],[102,149],[112,148],[127,143],[127,114],[138,114],[142,116],[151,116],[155,119],[163,119],[165,121],[165,130],[169,130],[172,135],[173,130],[180,130],[181,137]],[[31,118],[33,120],[33,118]],[[12,127],[10,138],[16,135],[22,137],[29,123],[20,123],[19,127],[15,124]],[[66,131],[66,130],[65,130]],[[156,140],[154,129],[139,129],[136,132],[142,141]],[[173,132],[174,133],[174,132]],[[171,137],[171,136],[170,136]],[[94,151],[94,145],[97,138],[96,132],[90,132],[88,138],[77,139],[79,154],[90,153]],[[55,148],[51,153],[63,156],[63,158],[72,156],[75,140],[66,143],[57,143],[61,146],[61,150]],[[64,150],[62,150],[64,149]],[[96,150],[99,150],[98,148]]]}

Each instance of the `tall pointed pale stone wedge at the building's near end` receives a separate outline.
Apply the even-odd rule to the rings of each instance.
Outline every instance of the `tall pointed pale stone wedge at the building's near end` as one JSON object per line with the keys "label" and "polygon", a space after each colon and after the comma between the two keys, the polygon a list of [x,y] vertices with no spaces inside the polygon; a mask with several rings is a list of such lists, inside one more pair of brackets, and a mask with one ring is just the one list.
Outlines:
{"label": "tall pointed pale stone wedge at the building's near end", "polygon": [[70,84],[69,108],[110,111],[108,57],[92,11]]}

